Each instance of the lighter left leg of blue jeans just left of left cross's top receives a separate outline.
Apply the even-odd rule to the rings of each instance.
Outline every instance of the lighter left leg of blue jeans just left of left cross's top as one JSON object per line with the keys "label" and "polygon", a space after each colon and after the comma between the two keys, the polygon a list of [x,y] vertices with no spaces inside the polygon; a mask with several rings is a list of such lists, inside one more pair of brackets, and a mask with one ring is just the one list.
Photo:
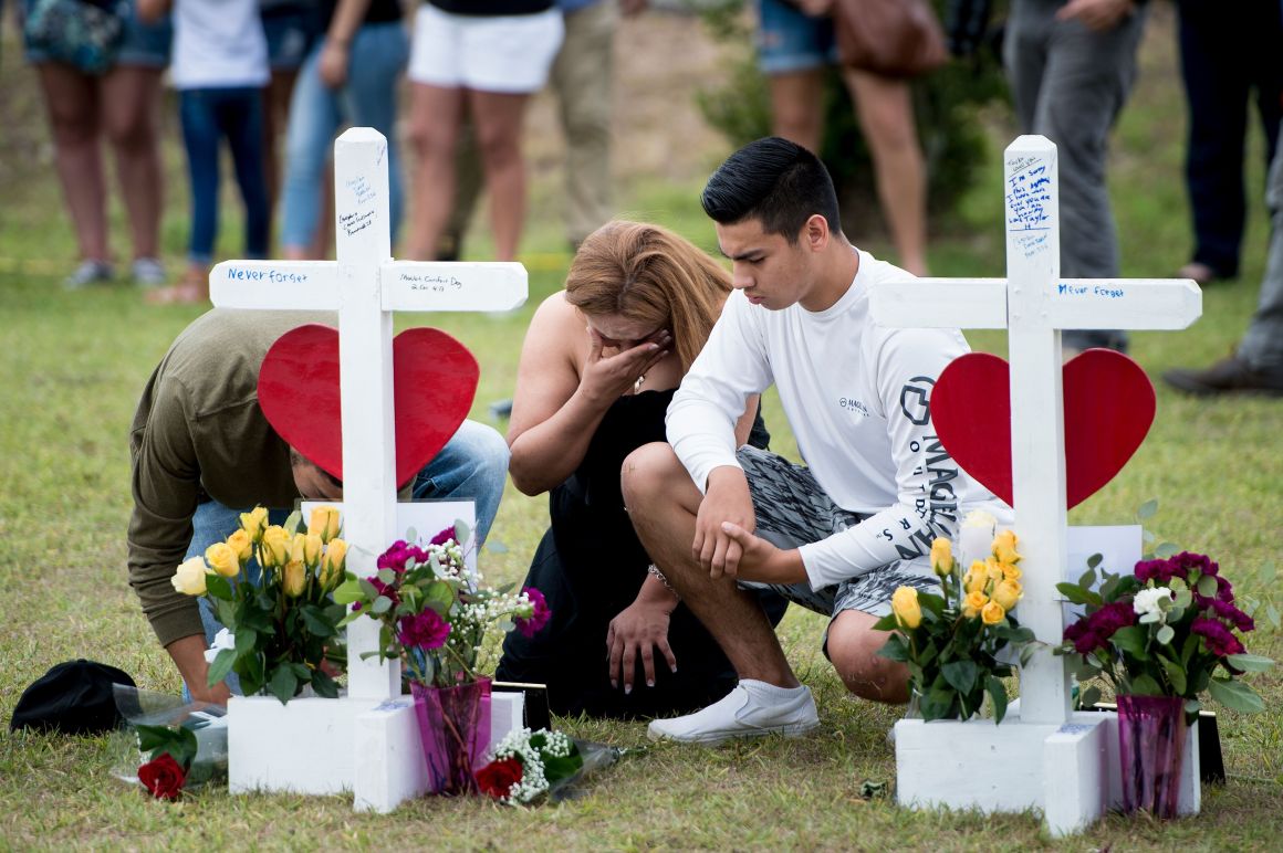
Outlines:
{"label": "lighter left leg of blue jeans just left of left cross's top", "polygon": [[325,192],[326,165],[341,115],[339,99],[319,74],[321,47],[303,63],[290,99],[285,138],[281,251],[291,260],[309,257]]}

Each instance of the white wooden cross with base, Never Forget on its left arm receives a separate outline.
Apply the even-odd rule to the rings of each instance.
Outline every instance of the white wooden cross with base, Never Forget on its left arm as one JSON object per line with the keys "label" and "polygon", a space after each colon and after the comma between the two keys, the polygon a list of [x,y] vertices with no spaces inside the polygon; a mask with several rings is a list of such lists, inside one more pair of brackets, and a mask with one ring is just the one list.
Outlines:
{"label": "white wooden cross with base, Never Forget on its left arm", "polygon": [[[217,307],[337,313],[344,538],[348,567],[370,575],[404,533],[396,517],[393,311],[506,311],[525,302],[527,278],[516,263],[394,261],[387,140],[352,128],[335,142],[334,160],[337,261],[223,261],[209,274],[209,292]],[[257,780],[241,788],[350,790],[357,808],[373,811],[422,793],[426,770],[399,667],[362,660],[377,646],[373,620],[348,626],[346,698],[284,707],[271,697],[234,698],[230,777]]]}

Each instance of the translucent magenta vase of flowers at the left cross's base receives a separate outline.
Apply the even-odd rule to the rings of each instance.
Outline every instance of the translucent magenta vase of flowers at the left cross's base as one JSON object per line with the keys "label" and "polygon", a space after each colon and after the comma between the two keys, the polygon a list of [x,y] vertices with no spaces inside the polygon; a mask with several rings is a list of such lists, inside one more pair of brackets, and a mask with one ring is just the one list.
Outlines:
{"label": "translucent magenta vase of flowers at the left cross's base", "polygon": [[490,745],[490,679],[452,688],[411,681],[430,794],[475,794]]}

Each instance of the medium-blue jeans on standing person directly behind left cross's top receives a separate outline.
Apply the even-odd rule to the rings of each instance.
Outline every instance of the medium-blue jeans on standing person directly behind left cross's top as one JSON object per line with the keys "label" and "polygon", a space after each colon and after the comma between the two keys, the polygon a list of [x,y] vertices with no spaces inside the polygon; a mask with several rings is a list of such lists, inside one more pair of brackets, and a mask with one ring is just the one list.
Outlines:
{"label": "medium-blue jeans on standing person directly behind left cross's top", "polygon": [[372,127],[387,137],[390,228],[396,240],[402,215],[400,164],[396,155],[396,81],[409,56],[409,41],[399,22],[366,24],[357,31],[348,61],[348,82],[328,88],[321,81],[325,41],[303,63],[290,100],[285,138],[284,218],[281,243],[305,250],[317,232],[321,186],[343,124]]}

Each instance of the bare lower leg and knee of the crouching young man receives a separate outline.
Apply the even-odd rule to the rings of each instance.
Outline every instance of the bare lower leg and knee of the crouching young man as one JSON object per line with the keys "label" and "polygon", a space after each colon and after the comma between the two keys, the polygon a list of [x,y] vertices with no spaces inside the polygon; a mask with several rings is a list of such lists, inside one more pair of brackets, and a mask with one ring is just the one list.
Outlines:
{"label": "bare lower leg and knee of the crouching young man", "polygon": [[704,624],[742,679],[795,688],[798,680],[757,601],[734,579],[713,580],[690,553],[702,494],[668,444],[624,461],[624,502],[642,544],[686,607]]}

